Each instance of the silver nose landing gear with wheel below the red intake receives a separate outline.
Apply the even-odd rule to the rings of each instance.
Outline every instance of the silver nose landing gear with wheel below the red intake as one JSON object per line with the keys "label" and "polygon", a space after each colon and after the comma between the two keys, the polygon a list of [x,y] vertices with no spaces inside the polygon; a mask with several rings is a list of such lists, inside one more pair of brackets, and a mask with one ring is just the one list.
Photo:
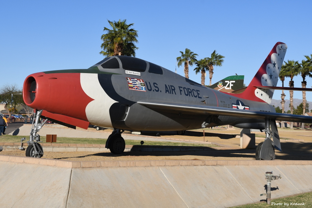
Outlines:
{"label": "silver nose landing gear with wheel below the red intake", "polygon": [[[40,135],[37,133],[42,126],[48,121],[46,119],[42,124],[39,123],[40,121],[40,116],[42,114],[42,110],[38,110],[35,113],[36,117],[36,122],[32,121],[32,130],[30,131],[30,136],[29,136],[29,141],[28,147],[26,149],[26,157],[42,157],[43,156],[43,149],[42,146],[39,144],[40,141]],[[21,139],[21,147],[19,148],[20,150],[24,150],[23,148],[23,141],[26,140],[26,138]]]}

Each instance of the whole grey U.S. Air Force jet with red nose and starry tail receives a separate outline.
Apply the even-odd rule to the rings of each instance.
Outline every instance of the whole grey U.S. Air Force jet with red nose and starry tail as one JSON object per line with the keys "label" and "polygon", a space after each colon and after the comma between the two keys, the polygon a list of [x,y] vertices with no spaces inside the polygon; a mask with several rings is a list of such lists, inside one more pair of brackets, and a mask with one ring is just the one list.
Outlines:
{"label": "whole grey U.S. Air Force jet with red nose and starry tail", "polygon": [[285,43],[277,42],[241,94],[220,92],[129,56],[111,56],[89,69],[29,75],[23,98],[36,109],[36,122],[26,156],[43,155],[37,134],[41,117],[71,128],[86,129],[89,124],[114,128],[105,147],[115,154],[124,152],[124,129],[185,131],[218,125],[264,129],[266,139],[258,145],[256,159],[274,159],[275,148],[281,151],[275,120],[312,123],[312,117],[275,113],[270,105],[271,87],[277,89],[286,50]]}

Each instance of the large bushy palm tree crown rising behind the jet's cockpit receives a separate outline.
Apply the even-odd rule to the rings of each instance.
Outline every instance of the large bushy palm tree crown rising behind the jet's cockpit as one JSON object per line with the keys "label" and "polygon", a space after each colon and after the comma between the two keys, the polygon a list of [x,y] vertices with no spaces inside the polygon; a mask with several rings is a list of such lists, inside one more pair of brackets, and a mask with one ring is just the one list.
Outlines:
{"label": "large bushy palm tree crown rising behind the jet's cockpit", "polygon": [[100,54],[107,57],[117,55],[135,56],[135,50],[138,47],[134,43],[138,42],[138,31],[132,28],[130,29],[134,23],[128,25],[125,19],[123,21],[119,19],[118,22],[107,21],[112,29],[104,27],[103,31],[107,33],[101,36],[101,40],[103,41],[101,48],[103,48],[103,51]]}

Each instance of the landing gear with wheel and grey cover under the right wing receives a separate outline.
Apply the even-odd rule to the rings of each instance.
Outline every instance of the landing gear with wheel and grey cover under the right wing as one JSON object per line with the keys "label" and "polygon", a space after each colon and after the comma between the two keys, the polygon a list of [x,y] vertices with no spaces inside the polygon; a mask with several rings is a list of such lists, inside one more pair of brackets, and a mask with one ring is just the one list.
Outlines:
{"label": "landing gear with wheel and grey cover under the right wing", "polygon": [[[266,138],[256,148],[256,160],[274,160],[275,148],[281,151],[280,137],[278,135],[275,120],[265,119]],[[270,130],[271,125],[271,130]],[[273,138],[273,141],[271,140]]]}

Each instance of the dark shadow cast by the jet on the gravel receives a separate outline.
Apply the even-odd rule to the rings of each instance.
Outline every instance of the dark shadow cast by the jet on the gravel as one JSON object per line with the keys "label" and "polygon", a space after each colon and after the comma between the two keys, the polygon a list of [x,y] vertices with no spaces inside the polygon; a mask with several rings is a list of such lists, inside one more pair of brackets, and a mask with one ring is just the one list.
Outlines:
{"label": "dark shadow cast by the jet on the gravel", "polygon": [[[283,142],[282,144],[283,155],[279,155],[279,151],[276,150],[276,159],[279,160],[310,160],[312,158],[312,143],[293,143],[293,142]],[[138,145],[140,146],[140,145]],[[155,146],[155,147],[166,147],[166,146]],[[168,146],[171,148],[172,146]],[[181,147],[181,146],[180,146]],[[183,146],[182,146],[183,147]],[[255,158],[256,149],[222,149],[216,150],[213,148],[205,147],[207,150],[201,151],[170,151],[170,152],[124,152],[123,154],[112,154],[110,152],[97,152],[94,154],[87,154],[79,156],[80,158],[89,156],[102,156],[102,157],[121,157],[121,156],[209,156],[209,157],[241,157],[241,158]],[[55,159],[68,159],[72,157],[61,157]]]}

